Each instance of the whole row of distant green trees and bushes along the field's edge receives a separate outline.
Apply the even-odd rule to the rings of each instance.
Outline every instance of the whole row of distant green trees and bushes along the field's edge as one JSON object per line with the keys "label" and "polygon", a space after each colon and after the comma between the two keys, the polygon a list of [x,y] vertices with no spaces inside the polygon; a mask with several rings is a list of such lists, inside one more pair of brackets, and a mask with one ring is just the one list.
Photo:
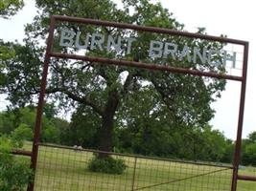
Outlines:
{"label": "whole row of distant green trees and bushes along the field's edge", "polygon": [[[35,106],[0,113],[0,134],[32,140]],[[41,141],[64,145],[98,148],[97,131],[101,118],[87,107],[79,107],[71,121],[57,117],[52,104],[45,104]],[[124,123],[124,121],[123,121]],[[132,153],[172,159],[218,161],[230,163],[234,141],[225,138],[219,130],[206,125],[203,128],[169,127],[168,123],[151,117],[133,118],[132,122],[115,124],[115,152]],[[256,132],[243,140],[242,164],[256,165]]]}

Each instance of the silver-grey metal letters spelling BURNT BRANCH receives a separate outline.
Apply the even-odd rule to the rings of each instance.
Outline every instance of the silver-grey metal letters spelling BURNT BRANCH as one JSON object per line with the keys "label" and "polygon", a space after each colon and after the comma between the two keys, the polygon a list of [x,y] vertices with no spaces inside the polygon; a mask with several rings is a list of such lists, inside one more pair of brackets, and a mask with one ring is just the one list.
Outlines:
{"label": "silver-grey metal letters spelling BURNT BRANCH", "polygon": [[[87,32],[81,36],[81,32],[74,32],[71,30],[62,30],[60,32],[59,46],[61,47],[74,47],[79,50],[100,50],[100,51],[114,51],[116,53],[129,54],[132,50],[132,44],[137,40],[134,37],[107,36],[103,33]],[[82,38],[81,38],[82,37]],[[81,41],[81,39],[84,39]],[[126,46],[122,46],[126,44]],[[125,47],[125,48],[124,48]],[[125,49],[125,50],[124,50]],[[169,58],[201,64],[210,64],[213,66],[222,65],[225,67],[227,62],[231,63],[231,68],[236,68],[236,53],[228,52],[225,50],[205,49],[202,50],[198,47],[189,47],[184,45],[178,49],[178,45],[174,42],[162,42],[151,40],[148,50],[149,58]],[[221,60],[214,59],[214,57],[221,57]]]}

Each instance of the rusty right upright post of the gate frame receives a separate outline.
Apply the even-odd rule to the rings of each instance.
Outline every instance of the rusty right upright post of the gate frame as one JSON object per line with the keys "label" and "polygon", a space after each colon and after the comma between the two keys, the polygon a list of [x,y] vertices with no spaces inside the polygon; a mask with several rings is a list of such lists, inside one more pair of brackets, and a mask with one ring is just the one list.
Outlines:
{"label": "rusty right upright post of the gate frame", "polygon": [[231,191],[237,190],[238,170],[239,170],[239,163],[240,163],[240,156],[241,156],[242,132],[243,132],[243,122],[244,122],[244,103],[245,103],[245,92],[246,92],[248,49],[249,49],[249,44],[246,43],[244,45],[243,80],[241,85],[238,131],[237,131],[236,147],[235,147],[234,161],[233,161],[233,177],[232,177]]}

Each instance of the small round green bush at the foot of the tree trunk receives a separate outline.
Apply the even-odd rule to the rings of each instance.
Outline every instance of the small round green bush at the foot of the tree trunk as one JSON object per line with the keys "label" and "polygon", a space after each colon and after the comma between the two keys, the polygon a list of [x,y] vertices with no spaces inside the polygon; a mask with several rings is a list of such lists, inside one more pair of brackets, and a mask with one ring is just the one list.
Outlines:
{"label": "small round green bush at the foot of the tree trunk", "polygon": [[89,161],[88,169],[92,172],[121,175],[127,168],[125,160],[106,158],[93,158]]}

